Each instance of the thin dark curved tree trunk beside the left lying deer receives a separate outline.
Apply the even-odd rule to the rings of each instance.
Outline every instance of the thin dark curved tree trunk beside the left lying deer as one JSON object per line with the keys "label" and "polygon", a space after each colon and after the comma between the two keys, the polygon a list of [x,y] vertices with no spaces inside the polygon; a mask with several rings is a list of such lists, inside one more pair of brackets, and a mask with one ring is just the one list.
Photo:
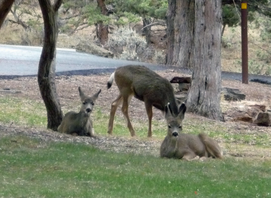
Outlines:
{"label": "thin dark curved tree trunk beside the left lying deer", "polygon": [[47,110],[47,127],[57,131],[63,113],[57,96],[55,84],[56,44],[58,37],[58,9],[62,0],[54,5],[50,0],[39,0],[44,20],[44,45],[39,62],[38,83]]}

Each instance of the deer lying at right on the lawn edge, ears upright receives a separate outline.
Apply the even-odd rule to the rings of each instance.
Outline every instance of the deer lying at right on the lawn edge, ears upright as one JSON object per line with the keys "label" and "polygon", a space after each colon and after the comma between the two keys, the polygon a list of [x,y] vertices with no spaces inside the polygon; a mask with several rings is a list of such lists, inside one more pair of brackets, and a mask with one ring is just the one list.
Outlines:
{"label": "deer lying at right on the lawn edge, ears upright", "polygon": [[167,105],[165,112],[168,132],[160,147],[161,157],[172,157],[188,161],[204,160],[207,157],[222,158],[222,149],[206,134],[201,133],[196,136],[181,133],[182,121],[186,112],[184,103],[180,106],[177,116],[172,115],[170,105]]}

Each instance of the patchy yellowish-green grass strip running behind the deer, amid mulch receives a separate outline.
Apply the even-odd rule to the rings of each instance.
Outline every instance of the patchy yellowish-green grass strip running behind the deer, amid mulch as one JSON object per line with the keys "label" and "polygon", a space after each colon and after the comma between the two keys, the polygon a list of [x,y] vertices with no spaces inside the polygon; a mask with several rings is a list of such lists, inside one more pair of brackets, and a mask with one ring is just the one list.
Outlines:
{"label": "patchy yellowish-green grass strip running behind the deer, amid mulch", "polygon": [[[101,107],[95,106],[91,116],[95,133],[102,136],[107,135],[109,114],[105,114]],[[0,122],[14,123],[19,126],[39,126],[46,128],[47,114],[44,103],[24,98],[2,97],[0,98]],[[132,118],[132,124],[136,131],[136,136],[139,139],[146,139],[147,121],[142,122],[133,120]],[[184,119],[183,124],[184,133],[199,134],[204,132],[210,137],[223,139],[226,143],[238,142],[264,147],[271,145],[271,137],[267,134],[230,133],[226,127],[213,120],[199,123],[196,118],[190,118]],[[166,130],[167,127],[164,120],[152,121],[153,139],[162,140],[166,136]],[[115,116],[113,134],[118,137],[131,137],[122,115]]]}

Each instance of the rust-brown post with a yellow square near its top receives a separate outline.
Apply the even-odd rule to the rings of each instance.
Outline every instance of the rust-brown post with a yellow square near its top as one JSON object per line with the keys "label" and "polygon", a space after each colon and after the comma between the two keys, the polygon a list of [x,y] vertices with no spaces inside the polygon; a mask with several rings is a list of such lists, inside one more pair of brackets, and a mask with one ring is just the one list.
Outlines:
{"label": "rust-brown post with a yellow square near its top", "polygon": [[242,83],[248,84],[248,10],[247,0],[241,1]]}

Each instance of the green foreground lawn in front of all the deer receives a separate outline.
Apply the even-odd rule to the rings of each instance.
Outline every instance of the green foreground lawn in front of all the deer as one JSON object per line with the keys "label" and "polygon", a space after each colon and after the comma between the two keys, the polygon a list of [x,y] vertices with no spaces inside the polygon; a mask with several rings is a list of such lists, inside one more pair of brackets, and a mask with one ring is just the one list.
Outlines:
{"label": "green foreground lawn in front of all the deer", "polygon": [[0,140],[0,197],[270,198],[270,160],[186,162],[24,136]]}

